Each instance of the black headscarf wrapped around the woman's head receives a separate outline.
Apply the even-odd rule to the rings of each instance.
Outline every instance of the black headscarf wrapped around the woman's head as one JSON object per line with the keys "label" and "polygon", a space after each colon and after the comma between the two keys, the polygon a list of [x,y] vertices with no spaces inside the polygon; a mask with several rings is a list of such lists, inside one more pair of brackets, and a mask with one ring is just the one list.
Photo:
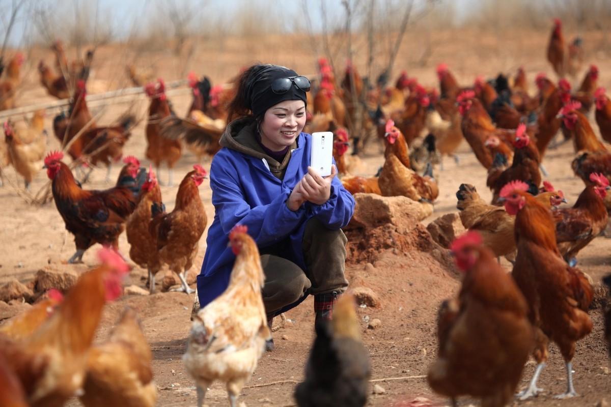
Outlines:
{"label": "black headscarf wrapped around the woman's head", "polygon": [[247,102],[255,117],[260,117],[267,109],[285,100],[302,100],[307,104],[305,92],[291,82],[290,89],[278,95],[272,92],[271,84],[280,77],[298,76],[298,74],[279,65],[259,65],[247,82]]}

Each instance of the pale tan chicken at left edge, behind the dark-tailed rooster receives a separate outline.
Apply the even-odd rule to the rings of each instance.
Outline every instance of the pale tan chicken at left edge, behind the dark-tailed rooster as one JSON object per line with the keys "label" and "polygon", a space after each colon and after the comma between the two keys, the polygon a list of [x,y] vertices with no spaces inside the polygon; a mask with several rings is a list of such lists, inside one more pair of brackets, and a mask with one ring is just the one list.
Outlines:
{"label": "pale tan chicken at left edge, behind the dark-tailed rooster", "polygon": [[[38,132],[38,134],[34,134]],[[36,128],[17,127],[10,120],[4,122],[4,136],[9,160],[24,178],[29,190],[32,180],[42,169],[46,151],[46,132]],[[31,139],[31,141],[26,141]]]}

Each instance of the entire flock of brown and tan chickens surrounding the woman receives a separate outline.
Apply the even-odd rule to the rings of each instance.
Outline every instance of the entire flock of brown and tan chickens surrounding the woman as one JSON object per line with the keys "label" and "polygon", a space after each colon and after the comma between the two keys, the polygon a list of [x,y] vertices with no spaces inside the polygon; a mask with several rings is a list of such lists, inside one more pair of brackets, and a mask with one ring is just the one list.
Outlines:
{"label": "entire flock of brown and tan chickens surrounding the woman", "polygon": [[[442,156],[458,162],[455,151],[463,139],[488,171],[491,203],[481,199],[473,185],[461,184],[456,192],[468,232],[450,249],[464,276],[456,297],[439,309],[439,351],[427,376],[433,391],[450,397],[453,405],[461,395],[480,398],[482,406],[507,405],[529,355],[538,366],[518,397],[537,395],[550,341],[558,345],[566,363],[567,390],[559,397],[577,395],[571,360],[576,342],[592,330],[588,309],[594,295],[594,282],[576,268],[577,256],[604,232],[611,209],[611,152],[587,117],[595,107],[602,139],[611,142],[611,101],[597,86],[594,65],[576,92],[564,79],[565,73],[578,71],[579,46],[580,41],[574,42],[565,55],[561,24],[555,21],[547,56],[561,79],[555,84],[539,74],[536,96],[527,92],[522,68],[513,81],[499,74],[461,88],[441,64],[438,92],[405,73],[391,87],[385,86],[384,77],[377,85],[368,84],[350,64],[337,85],[329,62],[318,61],[320,80],[316,92],[308,95],[306,131],[334,132],[334,158],[351,193],[406,196],[430,215],[439,195],[436,166],[442,164]],[[166,164],[167,184],[172,184],[172,168],[185,144],[199,159],[218,151],[235,84],[213,87],[206,77],[189,75],[192,104],[187,117],[180,118],[164,81],[144,84],[130,67],[134,84],[144,85],[150,99],[147,170],[136,157],[122,153],[135,118],[126,114],[112,126],[98,126],[87,108],[93,52],[82,63],[69,64],[60,43],[53,50],[57,76],[41,62],[40,78],[50,95],[71,95],[68,111],[54,118],[53,131],[73,163],[65,164],[62,151],[46,151],[44,113],[37,112],[28,123],[4,123],[0,167],[13,165],[27,188],[44,164],[57,211],[75,236],[76,253],[68,262],[81,261],[95,243],[104,248],[98,253],[100,266],[81,275],[65,297],[49,290],[28,311],[0,325],[0,405],[61,406],[78,395],[86,406],[153,406],[157,394],[151,351],[134,311],[123,312],[106,341],[92,345],[93,337],[104,304],[121,295],[121,278],[129,270],[118,250],[124,230],[131,260],[148,270],[150,293],[164,265],[178,275],[180,290],[193,292],[186,272],[207,225],[199,195],[207,171],[194,165],[184,176],[171,212],[163,204],[157,177]],[[14,107],[22,63],[17,54],[7,65],[7,79],[0,84],[4,109]],[[384,165],[376,176],[352,175],[361,172],[362,163],[357,155],[347,154],[348,127],[359,132],[359,137],[352,137],[355,149],[372,137],[383,140]],[[559,130],[573,141],[576,157],[571,168],[585,184],[573,207],[558,207],[566,203],[562,191],[542,177],[546,148]],[[110,173],[111,165],[121,159],[124,165],[114,187],[82,187],[93,167],[104,164]],[[261,298],[265,276],[257,245],[241,225],[229,238],[236,255],[229,287],[194,314],[183,357],[196,381],[200,407],[214,380],[227,385],[230,405],[237,405],[271,335]],[[500,256],[513,264],[511,273],[500,266]],[[611,287],[611,275],[604,283]],[[605,324],[611,342],[611,310]],[[363,406],[370,374],[353,299],[344,295],[334,320],[316,325],[304,382],[295,389],[296,402]]]}

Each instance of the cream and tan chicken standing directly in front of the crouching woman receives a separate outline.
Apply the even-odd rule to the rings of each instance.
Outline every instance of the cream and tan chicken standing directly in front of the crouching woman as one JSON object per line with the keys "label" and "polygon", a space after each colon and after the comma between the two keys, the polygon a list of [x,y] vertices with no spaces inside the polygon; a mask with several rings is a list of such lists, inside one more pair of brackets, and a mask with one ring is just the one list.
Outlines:
{"label": "cream and tan chicken standing directly in front of the crouching woman", "polygon": [[265,281],[257,243],[246,226],[235,226],[229,242],[236,255],[229,286],[216,300],[197,312],[183,361],[197,386],[197,406],[215,380],[227,386],[231,407],[251,378],[271,337],[261,297]]}

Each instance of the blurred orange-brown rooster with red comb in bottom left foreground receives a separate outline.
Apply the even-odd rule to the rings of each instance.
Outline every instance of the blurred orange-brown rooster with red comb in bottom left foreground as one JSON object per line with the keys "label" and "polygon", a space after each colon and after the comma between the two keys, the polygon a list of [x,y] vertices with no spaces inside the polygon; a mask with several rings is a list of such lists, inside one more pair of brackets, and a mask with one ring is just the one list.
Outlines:
{"label": "blurred orange-brown rooster with red comb in bottom left foreground", "polygon": [[57,310],[26,339],[0,335],[0,353],[16,372],[32,407],[60,407],[79,389],[104,304],[122,294],[129,270],[111,249],[98,252],[101,265],[82,274]]}

